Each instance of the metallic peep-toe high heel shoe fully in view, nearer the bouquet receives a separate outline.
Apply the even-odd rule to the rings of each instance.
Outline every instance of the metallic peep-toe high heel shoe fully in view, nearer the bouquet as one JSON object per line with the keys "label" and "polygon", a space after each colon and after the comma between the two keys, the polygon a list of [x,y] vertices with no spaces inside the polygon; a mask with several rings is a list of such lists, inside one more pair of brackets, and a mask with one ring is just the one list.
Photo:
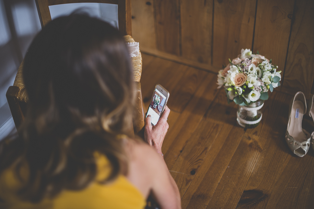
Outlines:
{"label": "metallic peep-toe high heel shoe fully in view, nearer the bouquet", "polygon": [[290,102],[288,127],[285,137],[290,150],[299,157],[306,155],[311,143],[310,133],[302,129],[302,118],[305,113],[305,96],[302,92],[299,91],[295,94],[295,97]]}

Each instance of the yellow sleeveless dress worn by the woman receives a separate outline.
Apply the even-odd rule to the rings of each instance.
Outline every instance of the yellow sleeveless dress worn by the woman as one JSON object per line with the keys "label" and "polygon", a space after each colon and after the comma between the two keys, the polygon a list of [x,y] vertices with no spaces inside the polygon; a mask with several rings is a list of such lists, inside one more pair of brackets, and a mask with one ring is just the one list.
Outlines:
{"label": "yellow sleeveless dress worn by the woman", "polygon": [[[97,159],[97,178],[104,179],[108,174],[109,161],[103,155],[95,155]],[[92,183],[80,191],[62,191],[54,199],[44,199],[38,204],[19,200],[15,195],[20,187],[12,169],[7,169],[0,176],[0,208],[2,209],[143,209],[145,198],[125,176],[108,184]]]}

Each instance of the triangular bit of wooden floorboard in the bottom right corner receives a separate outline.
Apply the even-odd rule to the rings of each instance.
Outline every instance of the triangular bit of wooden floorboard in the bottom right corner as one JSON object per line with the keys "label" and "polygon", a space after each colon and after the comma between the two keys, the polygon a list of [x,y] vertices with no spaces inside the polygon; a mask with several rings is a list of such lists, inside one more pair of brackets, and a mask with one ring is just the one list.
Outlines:
{"label": "triangular bit of wooden floorboard in the bottom right corner", "polygon": [[312,159],[309,171],[303,184],[297,205],[295,208],[313,208],[314,206],[314,159]]}

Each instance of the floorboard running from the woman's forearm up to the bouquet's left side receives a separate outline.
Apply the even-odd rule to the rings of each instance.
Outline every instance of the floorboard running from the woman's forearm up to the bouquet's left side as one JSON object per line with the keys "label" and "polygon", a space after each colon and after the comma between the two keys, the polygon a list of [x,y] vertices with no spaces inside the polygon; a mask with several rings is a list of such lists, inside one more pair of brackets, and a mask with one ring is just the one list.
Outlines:
{"label": "floorboard running from the woman's forearm up to the bouquet's left side", "polygon": [[176,125],[168,131],[162,150],[169,168],[173,166],[176,158],[180,155],[180,150],[182,150],[214,100],[217,93],[217,89],[215,89],[216,80],[215,74],[207,74],[204,77],[203,81],[200,82],[200,87],[179,116]]}

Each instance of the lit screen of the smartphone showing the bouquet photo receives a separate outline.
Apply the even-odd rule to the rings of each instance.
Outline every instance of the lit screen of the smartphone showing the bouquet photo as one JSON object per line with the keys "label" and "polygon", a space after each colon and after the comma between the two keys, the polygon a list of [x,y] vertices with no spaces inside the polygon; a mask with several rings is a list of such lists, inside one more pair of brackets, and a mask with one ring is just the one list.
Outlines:
{"label": "lit screen of the smartphone showing the bouquet photo", "polygon": [[165,105],[165,101],[166,101],[165,95],[161,94],[158,89],[155,89],[155,92],[153,94],[153,99],[150,102],[149,108],[147,111],[147,115],[150,115],[152,118],[153,125],[157,124],[162,108]]}

